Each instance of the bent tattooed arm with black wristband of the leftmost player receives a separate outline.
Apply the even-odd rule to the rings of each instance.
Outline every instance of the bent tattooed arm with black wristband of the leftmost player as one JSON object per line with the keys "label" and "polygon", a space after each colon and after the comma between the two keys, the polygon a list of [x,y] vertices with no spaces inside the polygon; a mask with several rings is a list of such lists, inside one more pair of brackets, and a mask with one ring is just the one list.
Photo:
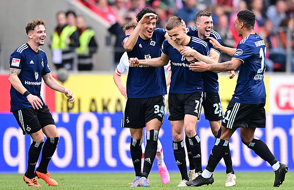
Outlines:
{"label": "bent tattooed arm with black wristband of the leftmost player", "polygon": [[32,105],[32,107],[35,109],[42,108],[43,103],[41,99],[38,96],[32,95],[25,86],[22,84],[20,79],[18,78],[18,75],[20,74],[20,70],[17,69],[10,69],[9,70],[9,77],[8,81],[11,83],[11,85],[21,94],[24,94],[26,96],[28,102]]}

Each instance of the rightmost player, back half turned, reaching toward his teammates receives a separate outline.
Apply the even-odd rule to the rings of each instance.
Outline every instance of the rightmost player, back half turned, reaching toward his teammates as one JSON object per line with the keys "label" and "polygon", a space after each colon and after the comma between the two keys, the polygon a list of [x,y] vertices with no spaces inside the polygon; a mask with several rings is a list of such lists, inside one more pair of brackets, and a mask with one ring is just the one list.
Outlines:
{"label": "rightmost player, back half turned, reaching toward his teammates", "polygon": [[[203,62],[193,63],[193,71],[228,71],[238,68],[239,76],[235,92],[221,123],[221,136],[216,138],[206,169],[194,180],[187,182],[188,186],[202,186],[214,182],[213,172],[221,158],[230,151],[229,139],[240,127],[242,142],[258,156],[267,161],[275,173],[274,187],[279,187],[285,180],[288,167],[278,162],[268,146],[254,136],[256,127],[266,127],[266,90],[263,81],[266,69],[266,45],[264,40],[254,31],[255,15],[249,10],[240,11],[236,18],[236,29],[243,40],[237,49],[223,47],[221,51],[233,56],[231,61],[217,64]],[[211,43],[216,40],[209,38]]]}

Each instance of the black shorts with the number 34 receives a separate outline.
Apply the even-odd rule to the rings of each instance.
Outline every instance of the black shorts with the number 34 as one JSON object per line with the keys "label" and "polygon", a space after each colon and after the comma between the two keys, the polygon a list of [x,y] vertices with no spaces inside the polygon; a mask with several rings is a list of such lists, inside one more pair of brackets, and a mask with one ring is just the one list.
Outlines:
{"label": "black shorts with the number 34", "polygon": [[163,123],[165,115],[164,95],[150,98],[128,98],[121,127],[143,128],[152,119]]}

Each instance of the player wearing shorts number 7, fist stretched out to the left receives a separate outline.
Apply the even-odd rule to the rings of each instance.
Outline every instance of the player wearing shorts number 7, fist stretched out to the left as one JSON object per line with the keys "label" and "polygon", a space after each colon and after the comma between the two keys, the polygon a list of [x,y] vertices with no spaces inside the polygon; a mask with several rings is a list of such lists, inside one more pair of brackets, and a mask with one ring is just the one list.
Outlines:
{"label": "player wearing shorts number 7, fist stretched out to the left", "polygon": [[[186,29],[182,25],[181,18],[170,18],[166,28],[168,36],[173,42],[189,45],[198,52],[209,55],[206,42],[196,37],[190,37],[185,33]],[[159,58],[150,60],[130,58],[130,66],[163,66],[171,60],[172,76],[168,119],[172,125],[173,153],[182,177],[177,187],[185,187],[189,177],[183,144],[184,126],[194,162],[196,167],[201,169],[200,138],[196,134],[196,124],[203,97],[203,80],[200,72],[189,70],[189,62],[167,40],[163,43],[161,51],[162,54]]]}

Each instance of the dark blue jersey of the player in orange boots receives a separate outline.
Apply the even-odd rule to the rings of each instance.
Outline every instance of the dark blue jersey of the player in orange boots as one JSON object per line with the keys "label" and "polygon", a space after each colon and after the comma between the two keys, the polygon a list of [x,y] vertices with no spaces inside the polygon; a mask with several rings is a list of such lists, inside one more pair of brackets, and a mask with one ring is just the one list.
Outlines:
{"label": "dark blue jersey of the player in orange boots", "polygon": [[[38,96],[45,105],[40,95],[42,76],[51,72],[46,53],[41,48],[39,48],[38,52],[35,52],[28,43],[25,43],[10,55],[10,68],[21,71],[18,78],[22,84],[31,94]],[[32,107],[26,97],[12,85],[10,97],[11,112]]]}

